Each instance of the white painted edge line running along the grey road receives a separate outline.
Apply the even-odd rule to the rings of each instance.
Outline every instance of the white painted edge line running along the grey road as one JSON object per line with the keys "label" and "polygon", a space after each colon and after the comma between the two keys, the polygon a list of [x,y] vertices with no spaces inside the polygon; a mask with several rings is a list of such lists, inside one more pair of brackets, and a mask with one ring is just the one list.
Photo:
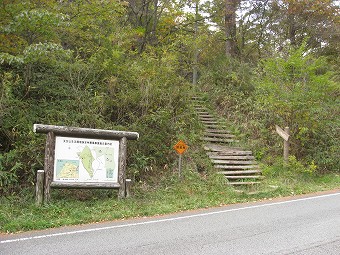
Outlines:
{"label": "white painted edge line running along the grey road", "polygon": [[260,208],[260,207],[268,207],[268,206],[289,204],[289,203],[295,203],[295,202],[301,202],[301,201],[307,201],[307,200],[321,199],[321,198],[333,197],[333,196],[339,196],[339,195],[340,195],[340,193],[333,193],[333,194],[326,194],[326,195],[321,195],[321,196],[305,197],[305,198],[299,198],[299,199],[288,200],[288,201],[274,202],[274,203],[269,203],[269,204],[260,204],[260,205],[252,205],[252,206],[241,207],[241,208],[227,209],[227,210],[221,210],[221,211],[217,211],[217,212],[207,212],[207,213],[193,214],[193,215],[187,215],[187,216],[179,216],[179,217],[167,218],[167,219],[151,220],[151,221],[137,222],[137,223],[128,223],[128,224],[116,225],[116,226],[90,228],[90,229],[75,230],[75,231],[68,231],[68,232],[61,232],[61,233],[54,233],[54,234],[47,234],[47,235],[40,235],[40,236],[9,239],[9,240],[0,241],[0,244],[21,242],[21,241],[28,241],[28,240],[33,240],[33,239],[42,239],[42,238],[56,237],[56,236],[74,235],[74,234],[95,232],[95,231],[108,230],[108,229],[134,227],[134,226],[139,226],[139,225],[149,225],[149,224],[156,224],[156,223],[161,223],[161,222],[177,221],[177,220],[190,219],[190,218],[196,218],[196,217],[204,217],[204,216],[215,215],[215,214],[222,214],[222,213],[228,213],[228,212],[255,209],[255,208]]}

